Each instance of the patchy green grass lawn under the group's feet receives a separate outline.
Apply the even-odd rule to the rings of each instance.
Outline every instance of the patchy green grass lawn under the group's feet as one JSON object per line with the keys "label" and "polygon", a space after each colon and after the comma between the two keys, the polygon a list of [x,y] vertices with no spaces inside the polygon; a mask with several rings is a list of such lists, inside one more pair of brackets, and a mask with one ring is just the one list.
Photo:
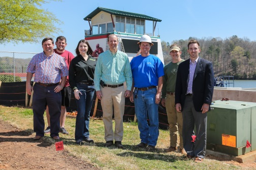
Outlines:
{"label": "patchy green grass lawn under the group's feet", "polygon": [[[33,111],[29,108],[6,107],[0,105],[0,119],[3,119],[21,130],[33,130]],[[222,161],[205,159],[202,163],[188,160],[178,152],[165,153],[170,145],[169,131],[160,130],[155,152],[137,149],[140,143],[139,130],[134,122],[124,122],[124,149],[104,147],[104,124],[102,120],[90,119],[90,138],[95,144],[75,144],[75,118],[66,119],[69,135],[60,134],[65,150],[77,156],[78,160],[87,161],[101,169],[241,169],[241,167]],[[45,117],[45,122],[46,117]],[[113,120],[113,126],[115,122]],[[45,125],[47,126],[47,124]],[[49,134],[44,138],[50,138]],[[53,143],[54,144],[54,143]]]}

